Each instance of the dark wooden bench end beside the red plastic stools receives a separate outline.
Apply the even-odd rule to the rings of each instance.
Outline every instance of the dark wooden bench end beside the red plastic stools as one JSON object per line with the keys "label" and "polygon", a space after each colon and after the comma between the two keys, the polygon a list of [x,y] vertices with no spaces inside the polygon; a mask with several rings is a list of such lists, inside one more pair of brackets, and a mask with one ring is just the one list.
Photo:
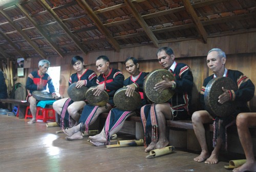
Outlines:
{"label": "dark wooden bench end beside the red plastic stools", "polygon": [[11,98],[0,99],[0,102],[17,105],[18,106],[18,117],[25,118],[26,108],[27,108],[27,106],[29,106],[29,102],[22,102],[22,100],[11,99]]}

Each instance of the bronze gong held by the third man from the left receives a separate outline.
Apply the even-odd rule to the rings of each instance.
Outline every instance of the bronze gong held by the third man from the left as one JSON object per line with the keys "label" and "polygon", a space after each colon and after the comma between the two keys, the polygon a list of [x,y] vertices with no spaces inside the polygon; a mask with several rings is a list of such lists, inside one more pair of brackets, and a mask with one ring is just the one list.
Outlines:
{"label": "bronze gong held by the third man from the left", "polygon": [[86,99],[88,100],[89,104],[93,106],[104,106],[109,101],[109,95],[106,91],[100,93],[99,96],[93,95],[93,89],[97,86],[90,87],[86,92]]}

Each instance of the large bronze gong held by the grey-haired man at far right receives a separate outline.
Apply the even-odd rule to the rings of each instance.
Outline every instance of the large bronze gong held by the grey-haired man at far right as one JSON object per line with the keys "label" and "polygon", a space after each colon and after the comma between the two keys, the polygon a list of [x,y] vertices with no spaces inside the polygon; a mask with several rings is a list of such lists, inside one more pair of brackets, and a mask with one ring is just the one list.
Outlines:
{"label": "large bronze gong held by the grey-haired man at far right", "polygon": [[236,103],[227,101],[224,104],[218,102],[219,96],[223,94],[222,87],[227,90],[237,91],[237,84],[228,77],[216,77],[211,79],[204,91],[205,108],[212,117],[229,116],[236,109]]}

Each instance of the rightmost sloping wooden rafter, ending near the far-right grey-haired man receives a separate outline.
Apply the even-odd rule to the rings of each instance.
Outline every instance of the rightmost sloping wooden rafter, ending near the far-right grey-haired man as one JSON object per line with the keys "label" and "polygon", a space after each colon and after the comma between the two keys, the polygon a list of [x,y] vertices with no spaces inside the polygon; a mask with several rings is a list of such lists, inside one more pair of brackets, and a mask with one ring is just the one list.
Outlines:
{"label": "rightmost sloping wooden rafter, ending near the far-right grey-haired man", "polygon": [[189,0],[182,0],[182,2],[188,14],[191,15],[200,37],[202,37],[204,43],[207,43],[207,32],[205,31],[200,19],[198,18],[195,9],[190,4]]}

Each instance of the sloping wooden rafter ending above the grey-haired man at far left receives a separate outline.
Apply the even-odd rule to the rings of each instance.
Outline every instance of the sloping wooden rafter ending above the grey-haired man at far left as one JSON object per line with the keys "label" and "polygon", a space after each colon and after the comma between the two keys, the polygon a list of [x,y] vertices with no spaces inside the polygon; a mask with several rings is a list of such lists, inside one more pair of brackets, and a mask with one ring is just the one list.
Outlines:
{"label": "sloping wooden rafter ending above the grey-haired man at far left", "polygon": [[[44,59],[46,59],[46,55],[45,53],[43,53],[36,45],[35,43],[22,31],[22,29],[20,29],[19,26],[17,26],[13,20],[3,11],[3,10],[0,10],[0,13],[8,20],[9,24],[14,28],[16,29],[20,35],[22,35],[24,37],[24,39],[28,42],[28,44],[33,47],[33,49],[38,53],[40,54],[40,56]],[[15,48],[15,47],[14,47]],[[16,48],[15,48],[16,49]],[[26,59],[26,57],[23,55],[22,56],[23,58]]]}

